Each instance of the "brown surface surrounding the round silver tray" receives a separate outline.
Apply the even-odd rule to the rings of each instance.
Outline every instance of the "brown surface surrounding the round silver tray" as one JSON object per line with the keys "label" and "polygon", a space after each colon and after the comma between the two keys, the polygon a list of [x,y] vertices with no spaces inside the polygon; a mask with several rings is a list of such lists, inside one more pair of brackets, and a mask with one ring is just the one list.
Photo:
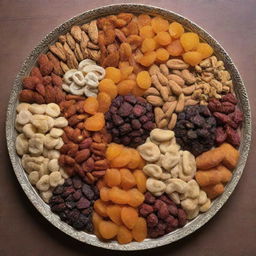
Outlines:
{"label": "brown surface surrounding the round silver tray", "polygon": [[[127,2],[127,1],[125,1]],[[237,65],[248,90],[255,124],[255,0],[134,1],[175,11],[215,37]],[[174,244],[145,252],[112,252],[77,242],[33,207],[12,170],[5,141],[5,111],[24,58],[54,27],[111,0],[0,0],[0,256],[68,255],[256,255],[256,142],[244,174],[224,207],[203,228]]]}

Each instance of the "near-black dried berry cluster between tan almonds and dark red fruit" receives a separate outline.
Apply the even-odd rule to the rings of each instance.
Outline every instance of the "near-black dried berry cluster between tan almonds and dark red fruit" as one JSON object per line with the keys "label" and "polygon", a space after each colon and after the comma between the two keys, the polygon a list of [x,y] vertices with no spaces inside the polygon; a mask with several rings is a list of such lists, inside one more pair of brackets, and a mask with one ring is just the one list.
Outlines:
{"label": "near-black dried berry cluster between tan almonds and dark red fruit", "polygon": [[198,156],[214,145],[216,120],[207,106],[187,106],[179,113],[174,128],[177,143],[183,150]]}

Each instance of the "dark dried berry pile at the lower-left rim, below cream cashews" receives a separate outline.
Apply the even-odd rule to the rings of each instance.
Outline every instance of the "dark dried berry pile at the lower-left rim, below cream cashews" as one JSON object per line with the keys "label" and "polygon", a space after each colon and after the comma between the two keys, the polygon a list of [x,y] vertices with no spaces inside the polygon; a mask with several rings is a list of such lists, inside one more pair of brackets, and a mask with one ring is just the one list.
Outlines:
{"label": "dark dried berry pile at the lower-left rim, below cream cashews", "polygon": [[88,185],[75,176],[53,190],[49,204],[62,221],[75,229],[92,232],[92,205],[98,197],[96,186]]}

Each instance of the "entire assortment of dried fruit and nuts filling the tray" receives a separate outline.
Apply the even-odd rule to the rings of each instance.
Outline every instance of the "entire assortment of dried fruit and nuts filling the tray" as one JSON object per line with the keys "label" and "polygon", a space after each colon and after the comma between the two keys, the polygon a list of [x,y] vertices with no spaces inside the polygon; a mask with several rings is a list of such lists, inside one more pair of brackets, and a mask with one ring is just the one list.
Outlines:
{"label": "entire assortment of dried fruit and nuts filling the tray", "polygon": [[22,81],[16,150],[53,213],[120,244],[209,210],[239,159],[233,82],[175,21],[119,13],[73,26]]}

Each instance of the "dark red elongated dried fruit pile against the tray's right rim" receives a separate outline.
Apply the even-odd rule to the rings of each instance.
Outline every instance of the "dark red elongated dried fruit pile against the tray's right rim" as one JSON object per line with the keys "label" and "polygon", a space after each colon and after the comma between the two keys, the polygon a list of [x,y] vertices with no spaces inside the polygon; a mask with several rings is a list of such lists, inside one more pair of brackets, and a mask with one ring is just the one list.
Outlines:
{"label": "dark red elongated dried fruit pile against the tray's right rim", "polygon": [[234,147],[240,145],[238,128],[243,121],[243,113],[236,107],[238,100],[232,94],[226,94],[220,100],[212,99],[209,102],[209,109],[217,120],[216,138],[217,145],[224,141]]}

